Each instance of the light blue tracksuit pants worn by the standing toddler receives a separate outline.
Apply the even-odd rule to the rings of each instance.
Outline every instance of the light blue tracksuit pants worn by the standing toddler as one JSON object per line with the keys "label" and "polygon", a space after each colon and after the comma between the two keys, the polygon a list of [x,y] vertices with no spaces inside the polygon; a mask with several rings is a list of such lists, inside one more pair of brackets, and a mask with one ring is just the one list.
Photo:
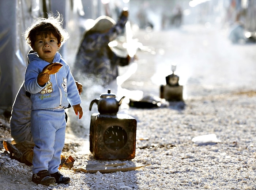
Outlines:
{"label": "light blue tracksuit pants worn by the standing toddler", "polygon": [[33,174],[48,170],[50,174],[58,171],[60,155],[65,142],[64,108],[31,111],[31,134],[35,143]]}

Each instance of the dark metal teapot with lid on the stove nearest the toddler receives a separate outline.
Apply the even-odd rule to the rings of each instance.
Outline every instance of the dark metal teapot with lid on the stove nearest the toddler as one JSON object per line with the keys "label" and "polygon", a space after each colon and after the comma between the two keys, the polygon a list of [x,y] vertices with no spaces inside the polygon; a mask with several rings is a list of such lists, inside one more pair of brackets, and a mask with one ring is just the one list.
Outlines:
{"label": "dark metal teapot with lid on the stove nearest the toddler", "polygon": [[117,101],[116,94],[111,93],[108,89],[108,93],[102,93],[100,98],[91,101],[89,110],[91,111],[93,103],[96,103],[100,114],[116,114],[124,98],[125,96]]}

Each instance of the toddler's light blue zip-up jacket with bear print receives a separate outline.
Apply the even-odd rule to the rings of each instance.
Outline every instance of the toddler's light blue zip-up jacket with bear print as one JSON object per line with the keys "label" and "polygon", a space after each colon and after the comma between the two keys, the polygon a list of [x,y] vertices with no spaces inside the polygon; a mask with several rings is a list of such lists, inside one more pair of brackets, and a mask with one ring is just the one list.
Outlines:
{"label": "toddler's light blue zip-up jacket with bear print", "polygon": [[81,98],[71,74],[69,65],[56,53],[54,62],[63,64],[59,72],[50,75],[50,80],[41,87],[37,83],[37,76],[49,63],[39,58],[37,53],[28,54],[30,64],[26,68],[25,88],[31,93],[31,110],[67,107],[81,104]]}

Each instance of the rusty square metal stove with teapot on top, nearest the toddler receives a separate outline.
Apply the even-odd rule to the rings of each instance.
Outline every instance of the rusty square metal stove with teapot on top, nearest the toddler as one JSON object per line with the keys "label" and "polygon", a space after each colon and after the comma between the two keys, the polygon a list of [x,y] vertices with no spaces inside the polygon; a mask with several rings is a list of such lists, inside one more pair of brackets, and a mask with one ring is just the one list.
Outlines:
{"label": "rusty square metal stove with teapot on top, nearest the toddler", "polygon": [[96,159],[135,157],[137,121],[127,114],[117,114],[121,100],[118,102],[109,89],[90,104],[90,110],[93,103],[99,110],[91,115],[90,122],[90,152]]}

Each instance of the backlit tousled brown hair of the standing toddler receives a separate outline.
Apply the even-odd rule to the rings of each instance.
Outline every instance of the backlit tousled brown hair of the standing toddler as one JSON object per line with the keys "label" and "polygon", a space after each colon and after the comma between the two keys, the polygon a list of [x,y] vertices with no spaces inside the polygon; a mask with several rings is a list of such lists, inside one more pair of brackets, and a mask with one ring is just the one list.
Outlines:
{"label": "backlit tousled brown hair of the standing toddler", "polygon": [[63,28],[63,16],[58,12],[57,15],[50,15],[47,18],[38,18],[35,20],[27,30],[24,32],[23,36],[27,44],[33,48],[35,43],[36,35],[47,35],[52,33],[58,40],[60,47],[69,38],[68,32]]}

